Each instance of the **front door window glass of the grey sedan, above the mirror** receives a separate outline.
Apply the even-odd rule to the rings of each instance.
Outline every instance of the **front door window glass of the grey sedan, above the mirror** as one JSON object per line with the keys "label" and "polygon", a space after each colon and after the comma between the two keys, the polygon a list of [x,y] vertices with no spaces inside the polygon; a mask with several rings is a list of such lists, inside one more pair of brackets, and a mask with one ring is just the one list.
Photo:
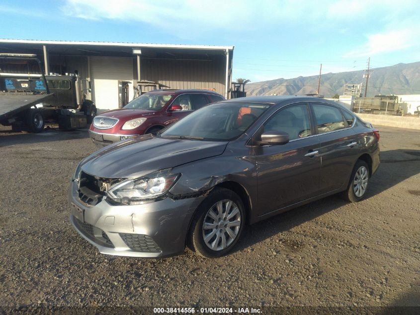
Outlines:
{"label": "front door window glass of the grey sedan, above the mirror", "polygon": [[276,112],[264,125],[264,131],[276,130],[289,134],[289,139],[311,135],[311,124],[306,104],[293,105]]}

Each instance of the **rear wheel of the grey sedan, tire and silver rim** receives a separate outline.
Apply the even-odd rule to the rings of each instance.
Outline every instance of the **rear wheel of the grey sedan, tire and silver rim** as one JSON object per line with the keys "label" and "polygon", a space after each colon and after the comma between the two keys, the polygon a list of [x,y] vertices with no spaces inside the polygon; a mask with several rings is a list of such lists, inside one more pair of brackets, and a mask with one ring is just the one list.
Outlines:
{"label": "rear wheel of the grey sedan, tire and silver rim", "polygon": [[369,166],[365,161],[358,160],[351,173],[350,183],[342,197],[352,203],[361,201],[369,185]]}

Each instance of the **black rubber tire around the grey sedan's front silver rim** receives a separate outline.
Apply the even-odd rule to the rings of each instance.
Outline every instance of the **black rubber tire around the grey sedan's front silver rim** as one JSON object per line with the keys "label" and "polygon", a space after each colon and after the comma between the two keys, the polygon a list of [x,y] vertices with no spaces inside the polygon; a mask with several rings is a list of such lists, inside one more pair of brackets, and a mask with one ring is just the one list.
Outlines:
{"label": "black rubber tire around the grey sedan's front silver rim", "polygon": [[[211,249],[206,242],[204,241],[204,235],[205,235],[205,230],[203,229],[203,225],[204,225],[204,221],[207,220],[209,218],[209,216],[207,215],[212,209],[214,209],[213,207],[215,207],[219,202],[221,201],[232,201],[232,206],[230,207],[230,213],[236,212],[235,209],[239,210],[239,214],[235,215],[234,217],[231,218],[232,223],[236,222],[239,225],[239,228],[236,230],[236,226],[233,226],[233,229],[230,229],[231,232],[233,232],[233,234],[236,233],[236,237],[233,238],[231,236],[229,236],[230,234],[225,231],[225,229],[222,230],[223,226],[219,226],[217,228],[215,228],[215,230],[218,230],[219,232],[216,231],[217,234],[213,234],[214,241],[213,244],[216,243],[220,244],[219,249],[213,250]],[[227,210],[227,204],[228,203],[224,203],[222,206],[222,210],[226,211]],[[235,207],[237,206],[237,207]],[[225,208],[226,207],[226,208]],[[216,206],[217,208],[217,206]],[[222,214],[225,215],[225,213],[229,213],[228,211],[223,212]],[[213,212],[213,214],[215,214]],[[239,220],[238,220],[238,215],[239,215]],[[225,216],[225,219],[227,218],[227,216]],[[197,208],[197,211],[194,214],[194,217],[192,219],[189,231],[188,231],[188,239],[187,239],[187,244],[188,247],[194,251],[195,253],[197,253],[198,255],[205,257],[205,258],[218,258],[221,256],[226,255],[227,253],[229,253],[232,248],[236,245],[236,243],[238,242],[238,240],[241,237],[241,233],[242,230],[244,229],[244,225],[245,225],[245,208],[244,208],[244,204],[241,200],[241,198],[234,193],[233,191],[229,190],[229,189],[225,189],[225,188],[215,188],[210,194],[209,196],[200,204],[200,206]],[[219,222],[220,221],[220,216],[219,216]],[[230,222],[229,219],[226,220],[226,222]],[[208,223],[207,223],[208,224]],[[222,223],[219,223],[221,225],[223,225]],[[226,225],[224,225],[224,227],[226,228]],[[219,230],[220,228],[220,230]],[[228,227],[230,228],[230,227]],[[207,236],[209,236],[213,230],[211,229],[207,229],[207,231],[210,231]],[[220,234],[220,238],[219,238],[219,234]],[[224,236],[222,236],[222,234]],[[211,239],[213,239],[213,236]],[[223,248],[223,239],[225,240],[225,243],[227,246],[225,246]],[[232,240],[231,240],[232,239]],[[210,243],[209,240],[209,243]],[[228,244],[228,242],[230,242],[230,244]]]}

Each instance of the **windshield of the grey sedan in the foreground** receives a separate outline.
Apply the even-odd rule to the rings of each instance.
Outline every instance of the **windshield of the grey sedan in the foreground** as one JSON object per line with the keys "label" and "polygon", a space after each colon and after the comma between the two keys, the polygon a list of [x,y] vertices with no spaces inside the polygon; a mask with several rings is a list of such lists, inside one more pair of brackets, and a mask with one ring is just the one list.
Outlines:
{"label": "windshield of the grey sedan in the foreground", "polygon": [[169,126],[162,137],[228,141],[237,138],[269,107],[265,104],[217,103],[200,108]]}

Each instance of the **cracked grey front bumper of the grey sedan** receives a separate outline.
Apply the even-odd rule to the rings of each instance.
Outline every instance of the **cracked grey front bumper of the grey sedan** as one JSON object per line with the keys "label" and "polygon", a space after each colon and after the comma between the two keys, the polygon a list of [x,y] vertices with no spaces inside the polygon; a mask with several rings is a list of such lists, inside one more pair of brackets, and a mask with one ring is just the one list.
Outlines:
{"label": "cracked grey front bumper of the grey sedan", "polygon": [[184,251],[191,217],[204,199],[167,197],[142,205],[115,206],[103,198],[89,206],[79,199],[75,182],[69,197],[70,221],[100,253],[147,258]]}

